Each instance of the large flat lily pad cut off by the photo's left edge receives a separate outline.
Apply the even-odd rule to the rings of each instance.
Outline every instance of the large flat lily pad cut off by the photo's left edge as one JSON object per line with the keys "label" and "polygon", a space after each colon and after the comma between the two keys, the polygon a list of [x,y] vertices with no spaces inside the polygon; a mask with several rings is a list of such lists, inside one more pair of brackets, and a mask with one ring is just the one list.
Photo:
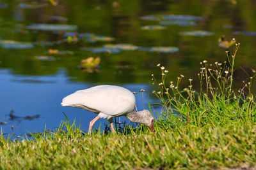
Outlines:
{"label": "large flat lily pad cut off by the photo's left edge", "polygon": [[32,43],[25,43],[13,40],[0,40],[0,45],[2,48],[7,49],[28,49],[34,47]]}

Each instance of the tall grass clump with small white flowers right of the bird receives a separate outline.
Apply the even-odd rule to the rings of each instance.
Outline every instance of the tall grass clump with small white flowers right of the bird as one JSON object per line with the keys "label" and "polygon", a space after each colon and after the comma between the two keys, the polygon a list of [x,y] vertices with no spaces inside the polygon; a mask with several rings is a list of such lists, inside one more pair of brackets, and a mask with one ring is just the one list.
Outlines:
{"label": "tall grass clump with small white flowers right of the bird", "polygon": [[[234,40],[235,41],[235,40]],[[241,90],[233,89],[234,63],[239,48],[235,43],[234,52],[225,52],[227,61],[208,64],[207,60],[201,62],[198,79],[200,88],[194,89],[193,80],[189,78],[189,86],[180,89],[179,85],[184,80],[180,74],[176,81],[166,82],[167,70],[160,66],[162,80],[157,83],[157,92],[154,94],[161,100],[164,107],[163,121],[173,125],[196,125],[203,127],[205,124],[226,125],[234,122],[255,122],[255,99],[251,93],[253,77],[244,84]],[[246,89],[249,94],[245,94]],[[179,116],[177,116],[177,113]],[[162,117],[162,118],[163,118]]]}

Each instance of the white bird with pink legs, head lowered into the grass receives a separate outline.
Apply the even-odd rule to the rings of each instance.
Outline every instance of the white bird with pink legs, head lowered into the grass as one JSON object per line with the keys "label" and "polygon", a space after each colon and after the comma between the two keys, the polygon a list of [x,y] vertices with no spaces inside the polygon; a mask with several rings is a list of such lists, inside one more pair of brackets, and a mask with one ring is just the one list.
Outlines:
{"label": "white bird with pink legs, head lowered into the grass", "polygon": [[99,118],[108,118],[112,132],[115,132],[113,117],[126,116],[131,122],[147,125],[154,132],[154,117],[148,110],[134,110],[135,97],[131,91],[115,85],[98,85],[78,90],[62,99],[62,106],[72,106],[98,114],[89,125],[90,134],[93,124]]}

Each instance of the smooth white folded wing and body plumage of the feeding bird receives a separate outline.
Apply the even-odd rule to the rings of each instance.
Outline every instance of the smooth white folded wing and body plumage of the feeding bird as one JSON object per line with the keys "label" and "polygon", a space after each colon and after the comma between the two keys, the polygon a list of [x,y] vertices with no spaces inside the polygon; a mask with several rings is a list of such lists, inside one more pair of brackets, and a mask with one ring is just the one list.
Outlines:
{"label": "smooth white folded wing and body plumage of the feeding bird", "polygon": [[63,99],[62,104],[119,116],[134,110],[135,97],[132,92],[123,87],[100,85],[70,94]]}

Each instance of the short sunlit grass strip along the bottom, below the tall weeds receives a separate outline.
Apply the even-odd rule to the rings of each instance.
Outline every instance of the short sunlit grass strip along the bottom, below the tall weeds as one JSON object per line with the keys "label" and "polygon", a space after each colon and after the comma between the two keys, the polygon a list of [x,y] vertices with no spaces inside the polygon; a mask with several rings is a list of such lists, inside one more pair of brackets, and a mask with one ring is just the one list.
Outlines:
{"label": "short sunlit grass strip along the bottom, below the tall weeds", "polygon": [[[138,130],[138,129],[137,129]],[[78,131],[77,131],[78,132]],[[256,162],[256,125],[189,125],[156,134],[93,134],[74,130],[8,143],[1,139],[0,169],[132,169],[249,167]]]}

